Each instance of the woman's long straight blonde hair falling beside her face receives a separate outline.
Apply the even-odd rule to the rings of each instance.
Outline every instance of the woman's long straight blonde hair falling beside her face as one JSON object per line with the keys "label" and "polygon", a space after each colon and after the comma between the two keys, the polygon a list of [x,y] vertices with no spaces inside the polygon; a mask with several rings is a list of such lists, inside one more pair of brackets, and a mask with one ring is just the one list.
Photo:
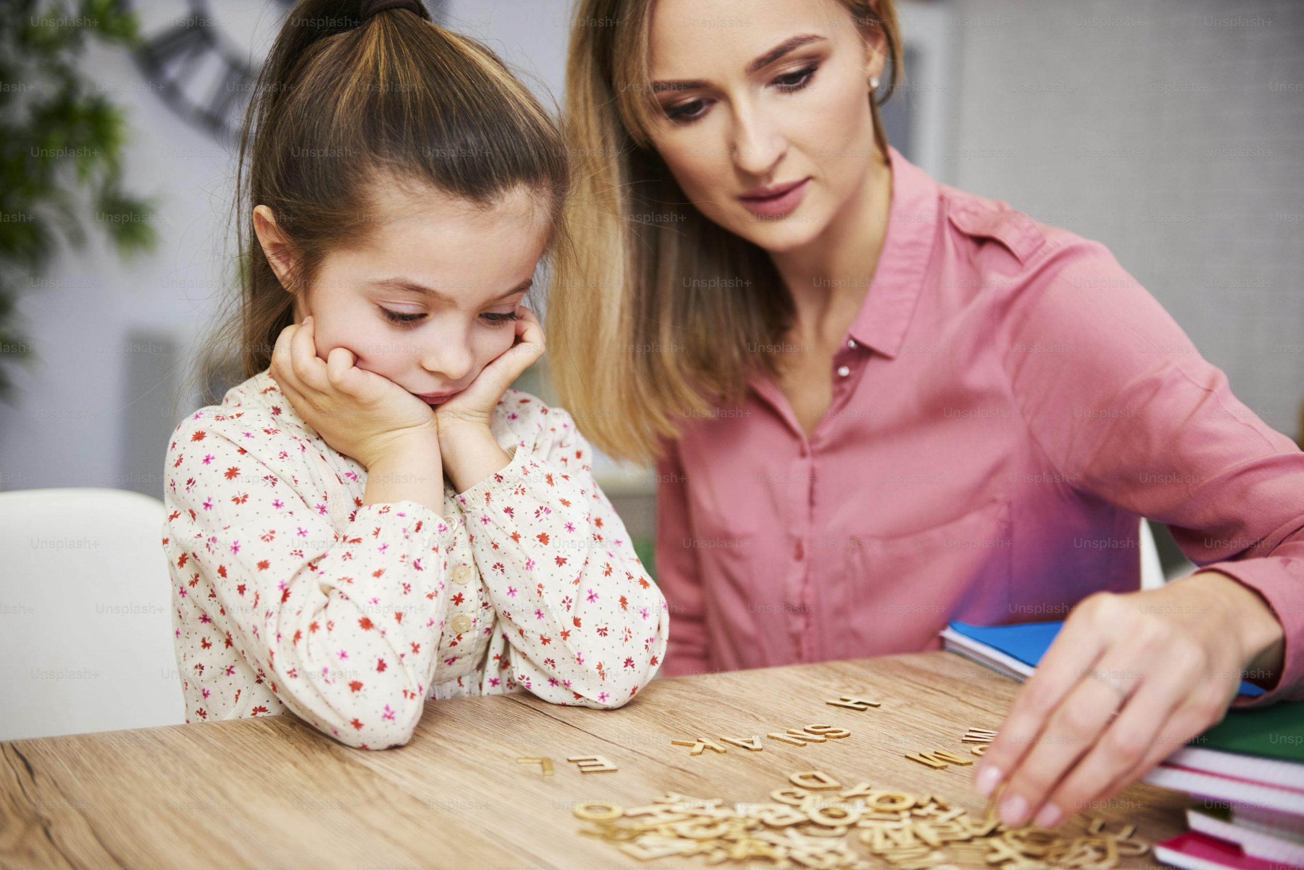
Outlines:
{"label": "woman's long straight blonde hair falling beside her face", "polygon": [[[698,211],[649,142],[653,3],[576,5],[565,121],[572,256],[557,263],[548,297],[562,404],[601,450],[638,462],[686,417],[741,400],[758,365],[776,373],[772,348],[793,321],[768,254]],[[884,34],[891,95],[901,70],[893,0],[840,3]],[[870,108],[887,154],[879,102]]]}

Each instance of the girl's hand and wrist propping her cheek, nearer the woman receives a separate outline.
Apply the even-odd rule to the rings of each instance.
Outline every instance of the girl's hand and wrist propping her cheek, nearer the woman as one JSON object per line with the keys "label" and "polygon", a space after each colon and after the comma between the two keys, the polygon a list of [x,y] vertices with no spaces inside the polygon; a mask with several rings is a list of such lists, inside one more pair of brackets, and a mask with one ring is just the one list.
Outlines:
{"label": "girl's hand and wrist propping her cheek, nearer the woman", "polygon": [[512,346],[484,367],[466,390],[436,406],[443,471],[459,493],[511,462],[493,437],[493,410],[511,382],[544,355],[544,329],[539,318],[526,307],[516,313]]}

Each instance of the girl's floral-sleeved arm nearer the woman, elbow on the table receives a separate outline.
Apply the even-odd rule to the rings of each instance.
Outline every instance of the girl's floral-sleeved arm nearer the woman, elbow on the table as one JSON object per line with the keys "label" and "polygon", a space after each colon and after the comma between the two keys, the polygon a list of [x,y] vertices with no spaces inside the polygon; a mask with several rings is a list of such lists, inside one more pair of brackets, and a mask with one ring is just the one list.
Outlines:
{"label": "girl's floral-sleeved arm nearer the woman, elbow on the table", "polygon": [[527,437],[458,502],[511,647],[506,673],[553,703],[619,707],[665,657],[665,599],[593,481],[570,415],[516,391],[503,403]]}

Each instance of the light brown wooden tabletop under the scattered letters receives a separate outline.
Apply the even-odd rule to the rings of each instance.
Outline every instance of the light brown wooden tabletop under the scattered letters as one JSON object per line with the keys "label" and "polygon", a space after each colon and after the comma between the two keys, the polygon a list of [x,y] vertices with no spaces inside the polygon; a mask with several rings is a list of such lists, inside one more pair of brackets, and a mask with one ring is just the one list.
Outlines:
{"label": "light brown wooden tabletop under the scattered letters", "polygon": [[[655,680],[617,711],[527,694],[430,702],[412,741],[385,751],[349,749],[289,715],[12,741],[0,743],[0,867],[634,867],[644,865],[579,835],[575,802],[642,806],[668,790],[759,802],[808,770],[936,793],[978,818],[986,801],[971,766],[932,770],[905,754],[968,754],[961,734],[999,728],[1016,689],[926,652]],[[882,707],[825,703],[840,694]],[[698,757],[670,743],[816,723],[852,736],[801,747],[763,737],[763,751]],[[618,770],[583,773],[572,755]],[[556,773],[520,757],[549,757]],[[1153,843],[1185,828],[1189,802],[1138,784],[1093,811]],[[1120,866],[1154,863],[1148,854]]]}

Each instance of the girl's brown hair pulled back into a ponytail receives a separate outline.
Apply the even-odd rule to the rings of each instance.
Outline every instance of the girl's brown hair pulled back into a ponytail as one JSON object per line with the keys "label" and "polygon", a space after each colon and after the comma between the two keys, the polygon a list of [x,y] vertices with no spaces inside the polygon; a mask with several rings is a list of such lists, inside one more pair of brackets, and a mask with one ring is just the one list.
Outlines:
{"label": "girl's brown hair pulled back into a ponytail", "polygon": [[481,206],[524,187],[553,215],[550,250],[565,247],[570,162],[554,119],[497,55],[437,26],[424,7],[363,14],[374,5],[300,0],[262,67],[240,137],[239,293],[186,381],[203,402],[266,369],[293,322],[293,297],[253,231],[256,205],[271,209],[289,243],[296,292],[331,249],[376,228],[378,176]]}

